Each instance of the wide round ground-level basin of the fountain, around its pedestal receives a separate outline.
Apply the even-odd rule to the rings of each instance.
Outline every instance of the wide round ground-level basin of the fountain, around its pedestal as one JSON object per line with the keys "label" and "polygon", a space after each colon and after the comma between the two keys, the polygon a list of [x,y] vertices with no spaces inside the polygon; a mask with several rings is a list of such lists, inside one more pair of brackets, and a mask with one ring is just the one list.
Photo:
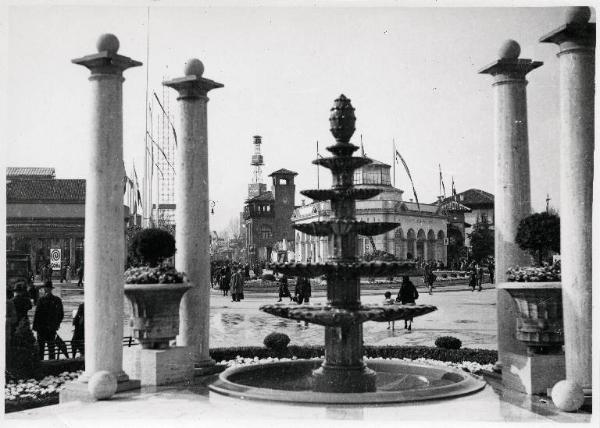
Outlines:
{"label": "wide round ground-level basin of the fountain, around its pedestal", "polygon": [[312,390],[313,370],[322,360],[253,364],[225,370],[210,389],[250,400],[305,404],[383,404],[454,398],[477,392],[485,381],[469,373],[403,361],[369,361],[377,391],[330,393]]}

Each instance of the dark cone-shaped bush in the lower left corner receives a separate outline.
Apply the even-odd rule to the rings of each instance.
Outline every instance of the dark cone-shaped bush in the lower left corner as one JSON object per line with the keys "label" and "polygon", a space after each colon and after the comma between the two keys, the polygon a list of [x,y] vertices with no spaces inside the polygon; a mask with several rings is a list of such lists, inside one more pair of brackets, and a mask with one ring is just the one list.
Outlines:
{"label": "dark cone-shaped bush in the lower left corner", "polygon": [[27,379],[38,374],[38,347],[27,319],[22,319],[6,350],[7,379]]}

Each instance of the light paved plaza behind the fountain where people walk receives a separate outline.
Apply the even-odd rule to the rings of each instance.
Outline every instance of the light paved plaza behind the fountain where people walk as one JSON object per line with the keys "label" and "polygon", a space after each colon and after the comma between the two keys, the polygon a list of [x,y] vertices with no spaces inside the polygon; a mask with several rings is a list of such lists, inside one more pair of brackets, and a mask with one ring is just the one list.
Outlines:
{"label": "light paved plaza behind the fountain where people walk", "polygon": [[[379,286],[381,287],[381,286]],[[379,288],[378,287],[378,288]],[[389,288],[394,295],[399,285]],[[380,303],[388,289],[364,289],[363,303]],[[65,319],[59,334],[70,340],[73,327],[72,312],[83,301],[83,290],[64,286],[60,291],[65,307]],[[404,330],[402,321],[396,330],[387,329],[387,323],[368,322],[363,325],[366,345],[424,345],[433,346],[439,336],[459,338],[463,347],[496,349],[496,291],[484,284],[481,292],[472,292],[465,284],[437,286],[433,295],[419,287],[418,304],[431,304],[438,310],[415,319],[412,331]],[[264,337],[274,331],[287,334],[291,345],[322,345],[324,327],[266,314],[258,308],[277,301],[276,290],[247,291],[241,302],[232,302],[218,290],[211,290],[210,347],[262,346]],[[325,303],[325,291],[313,291],[311,303]],[[128,303],[126,302],[126,305]],[[291,303],[294,305],[294,303]],[[33,311],[30,312],[33,314]],[[124,336],[129,336],[129,316],[124,317]]]}

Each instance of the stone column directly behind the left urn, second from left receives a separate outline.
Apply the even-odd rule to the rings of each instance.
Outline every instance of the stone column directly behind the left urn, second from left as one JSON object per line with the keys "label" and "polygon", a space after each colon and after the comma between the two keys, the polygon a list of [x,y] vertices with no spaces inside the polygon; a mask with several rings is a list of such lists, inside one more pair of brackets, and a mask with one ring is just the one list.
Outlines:
{"label": "stone column directly behind the left urn, second from left", "polygon": [[185,77],[163,82],[179,96],[181,125],[175,157],[176,268],[187,274],[194,286],[179,309],[177,344],[187,346],[196,367],[211,366],[209,350],[210,256],[208,198],[208,139],[206,94],[223,85],[202,77],[204,65],[189,60]]}

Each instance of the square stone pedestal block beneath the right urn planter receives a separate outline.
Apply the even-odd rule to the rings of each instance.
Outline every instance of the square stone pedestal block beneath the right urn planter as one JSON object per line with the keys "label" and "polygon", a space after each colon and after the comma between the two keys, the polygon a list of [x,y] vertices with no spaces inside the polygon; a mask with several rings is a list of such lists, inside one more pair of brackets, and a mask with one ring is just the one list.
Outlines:
{"label": "square stone pedestal block beneath the right urn planter", "polygon": [[565,379],[565,355],[521,355],[506,352],[502,360],[502,385],[526,394],[546,394]]}

